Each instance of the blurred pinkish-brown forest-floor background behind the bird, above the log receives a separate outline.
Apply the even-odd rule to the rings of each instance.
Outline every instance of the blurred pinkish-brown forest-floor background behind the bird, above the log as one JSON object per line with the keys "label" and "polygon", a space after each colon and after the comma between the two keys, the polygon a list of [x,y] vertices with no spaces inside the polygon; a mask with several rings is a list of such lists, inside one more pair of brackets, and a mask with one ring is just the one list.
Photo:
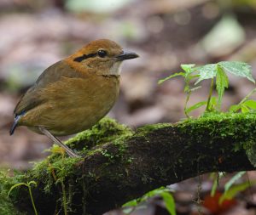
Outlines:
{"label": "blurred pinkish-brown forest-floor background behind the bird, above the log", "polygon": [[[47,156],[44,136],[25,127],[9,136],[15,105],[44,69],[97,38],[141,56],[123,65],[109,113],[131,127],[185,117],[183,79],[157,84],[180,64],[241,60],[256,76],[255,0],[0,0],[0,167],[26,169]],[[202,84],[189,105],[207,99]],[[223,110],[253,88],[230,76]]]}

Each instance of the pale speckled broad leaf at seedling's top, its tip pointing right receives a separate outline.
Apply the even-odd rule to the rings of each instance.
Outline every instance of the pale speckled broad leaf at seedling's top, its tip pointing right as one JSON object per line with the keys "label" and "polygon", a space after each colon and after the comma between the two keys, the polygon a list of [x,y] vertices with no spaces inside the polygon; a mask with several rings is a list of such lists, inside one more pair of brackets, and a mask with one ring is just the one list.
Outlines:
{"label": "pale speckled broad leaf at seedling's top, its tip pointing right", "polygon": [[239,61],[222,61],[219,62],[224,71],[229,71],[235,76],[242,76],[246,77],[251,82],[255,83],[253,76],[252,76],[252,67],[244,62]]}

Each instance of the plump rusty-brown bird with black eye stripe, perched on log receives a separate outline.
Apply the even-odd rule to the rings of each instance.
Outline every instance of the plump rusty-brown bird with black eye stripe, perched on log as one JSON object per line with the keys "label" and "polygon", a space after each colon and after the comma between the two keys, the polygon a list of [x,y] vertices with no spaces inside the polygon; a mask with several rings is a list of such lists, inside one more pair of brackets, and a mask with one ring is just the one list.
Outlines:
{"label": "plump rusty-brown bird with black eye stripe, perched on log", "polygon": [[82,132],[106,116],[119,96],[122,62],[137,57],[116,42],[99,39],[50,65],[20,98],[9,134],[26,126],[78,157],[57,136]]}

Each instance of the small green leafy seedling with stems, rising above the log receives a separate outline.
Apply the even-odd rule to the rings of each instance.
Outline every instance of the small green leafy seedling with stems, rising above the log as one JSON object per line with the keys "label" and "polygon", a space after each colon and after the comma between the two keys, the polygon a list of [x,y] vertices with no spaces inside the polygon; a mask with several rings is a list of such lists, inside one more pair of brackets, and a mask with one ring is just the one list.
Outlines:
{"label": "small green leafy seedling with stems, rising above the log", "polygon": [[[209,65],[202,65],[202,66],[195,66],[195,64],[189,65],[181,65],[183,71],[177,72],[172,74],[171,76],[167,76],[164,79],[161,79],[158,83],[166,82],[167,80],[175,77],[175,76],[183,76],[185,86],[184,86],[184,93],[187,94],[185,105],[184,105],[184,112],[187,117],[189,117],[189,113],[192,110],[196,110],[201,106],[206,106],[205,111],[220,111],[221,105],[223,102],[224,91],[226,88],[229,88],[229,77],[227,73],[230,73],[235,76],[246,77],[249,81],[255,83],[253,76],[252,76],[252,68],[250,65],[240,61],[221,61],[216,64],[209,64]],[[191,93],[199,88],[199,84],[203,80],[211,80],[211,86],[209,89],[208,99],[205,101],[200,101],[195,105],[187,106]],[[191,88],[191,82],[195,82],[193,88]],[[212,91],[216,89],[218,94],[218,99],[212,96]],[[253,90],[251,93],[247,95],[247,97],[238,105],[232,105],[230,107],[230,112],[237,112],[241,110],[241,112],[249,112],[256,110],[256,101],[252,99],[248,99],[255,93]]]}

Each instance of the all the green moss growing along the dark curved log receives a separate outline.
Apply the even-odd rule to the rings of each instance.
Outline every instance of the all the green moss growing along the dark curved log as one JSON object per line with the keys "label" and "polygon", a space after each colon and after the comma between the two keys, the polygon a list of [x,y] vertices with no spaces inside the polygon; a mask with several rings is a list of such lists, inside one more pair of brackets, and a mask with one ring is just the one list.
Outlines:
{"label": "all the green moss growing along the dark curved log", "polygon": [[[225,139],[232,137],[236,140],[236,147],[234,150],[246,150],[250,152],[251,157],[255,155],[255,140],[256,140],[256,115],[254,114],[234,114],[234,113],[207,113],[196,119],[187,119],[183,122],[178,122],[175,125],[169,123],[162,123],[156,125],[148,125],[137,129],[134,133],[131,128],[119,125],[117,122],[104,118],[101,122],[96,124],[91,129],[77,134],[72,139],[67,141],[67,144],[81,152],[87,158],[93,156],[96,153],[104,156],[102,166],[112,165],[115,162],[119,163],[120,169],[112,173],[107,173],[106,168],[98,167],[96,172],[86,175],[86,179],[91,179],[96,183],[97,178],[101,178],[103,175],[109,176],[109,178],[119,178],[119,174],[125,174],[124,169],[126,165],[132,163],[132,157],[127,153],[127,139],[132,138],[145,138],[148,133],[153,132],[156,129],[175,127],[183,135],[188,135],[191,141],[197,141],[200,144],[204,143],[206,134],[210,136],[210,139]],[[106,144],[105,147],[100,145]],[[55,148],[55,147],[54,147]],[[15,213],[15,207],[13,202],[19,198],[20,188],[17,188],[11,194],[11,200],[7,197],[9,189],[12,185],[35,180],[40,182],[40,190],[43,190],[46,195],[55,195],[57,201],[61,202],[61,193],[54,192],[56,187],[60,188],[61,184],[65,182],[67,191],[68,202],[72,202],[73,195],[76,192],[81,192],[77,184],[82,184],[84,196],[87,192],[86,184],[84,185],[84,175],[76,165],[79,161],[83,161],[83,158],[69,158],[64,157],[63,154],[54,150],[44,161],[35,163],[32,170],[29,170],[26,174],[16,173],[14,177],[9,177],[7,174],[0,172],[0,214],[20,214]],[[57,152],[57,153],[56,153]],[[248,153],[247,153],[248,155]],[[201,155],[203,156],[203,155]],[[106,160],[106,161],[105,161]],[[182,161],[177,160],[177,164],[182,166]],[[98,164],[96,164],[98,165]],[[113,166],[116,167],[116,166]],[[160,170],[163,177],[166,177],[165,169]],[[79,176],[76,181],[72,181],[73,175]],[[149,178],[147,173],[144,174],[142,180],[144,183],[150,182],[152,178]],[[71,188],[74,188],[71,189]],[[80,187],[81,188],[81,187]],[[84,200],[86,198],[84,197]],[[9,211],[8,211],[9,210]]]}

